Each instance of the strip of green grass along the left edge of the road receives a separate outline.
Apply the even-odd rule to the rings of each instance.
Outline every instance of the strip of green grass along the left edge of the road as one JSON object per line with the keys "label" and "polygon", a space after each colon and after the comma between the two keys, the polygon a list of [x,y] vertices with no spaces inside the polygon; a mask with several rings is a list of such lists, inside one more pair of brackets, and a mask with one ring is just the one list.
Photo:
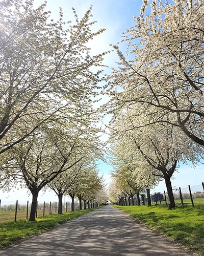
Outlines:
{"label": "strip of green grass along the left edge of the road", "polygon": [[78,218],[95,209],[96,208],[68,211],[63,215],[46,215],[45,217],[36,218],[35,222],[29,222],[26,219],[16,222],[3,222],[0,224],[0,249],[28,239],[66,221]]}

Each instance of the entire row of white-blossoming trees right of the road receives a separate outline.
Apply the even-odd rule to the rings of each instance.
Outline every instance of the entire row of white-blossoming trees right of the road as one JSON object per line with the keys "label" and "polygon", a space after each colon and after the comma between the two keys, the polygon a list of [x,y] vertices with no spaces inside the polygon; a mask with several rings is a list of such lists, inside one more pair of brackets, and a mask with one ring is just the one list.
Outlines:
{"label": "entire row of white-blossoming trees right of the road", "polygon": [[114,46],[120,63],[110,77],[108,109],[118,198],[164,179],[175,207],[176,168],[203,159],[203,8],[199,0],[143,1],[123,34],[127,55]]}

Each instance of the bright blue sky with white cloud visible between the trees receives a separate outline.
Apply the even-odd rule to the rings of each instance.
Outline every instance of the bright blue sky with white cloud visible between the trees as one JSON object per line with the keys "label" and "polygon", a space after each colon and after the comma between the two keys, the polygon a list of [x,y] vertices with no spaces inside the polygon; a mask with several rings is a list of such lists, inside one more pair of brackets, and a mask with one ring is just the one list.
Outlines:
{"label": "bright blue sky with white cloud visible between the trees", "polygon": [[[43,3],[41,0],[35,0],[35,7]],[[112,49],[110,44],[116,44],[121,40],[122,32],[125,32],[126,28],[130,28],[134,25],[133,15],[139,15],[139,10],[141,7],[141,0],[47,0],[47,10],[52,12],[51,17],[54,19],[58,18],[59,8],[63,9],[64,21],[73,19],[72,7],[75,9],[79,18],[89,9],[92,5],[92,20],[96,20],[97,24],[94,25],[93,29],[97,31],[98,29],[105,28],[106,31],[95,38],[91,42],[90,47],[94,54],[101,53]],[[125,49],[122,49],[123,51]],[[105,63],[109,67],[116,67],[115,62],[118,61],[117,55],[115,52],[107,55],[105,58]],[[111,72],[106,70],[106,72]],[[106,99],[104,99],[106,101]],[[99,174],[104,175],[106,183],[110,183],[110,171],[112,166],[99,162],[98,165]],[[203,166],[200,165],[195,169],[182,165],[179,168],[179,172],[175,173],[174,179],[172,179],[173,187],[187,187],[188,185],[197,185],[201,184],[204,181],[203,175]],[[163,192],[166,190],[164,181],[161,182],[155,189],[151,190],[151,194],[155,191]],[[15,190],[11,193],[3,194],[0,192],[0,199],[6,202],[13,202],[15,200],[19,201],[31,201],[31,197],[27,195],[27,190]],[[39,202],[49,202],[57,201],[55,194],[47,193],[43,195],[41,192],[38,198]]]}

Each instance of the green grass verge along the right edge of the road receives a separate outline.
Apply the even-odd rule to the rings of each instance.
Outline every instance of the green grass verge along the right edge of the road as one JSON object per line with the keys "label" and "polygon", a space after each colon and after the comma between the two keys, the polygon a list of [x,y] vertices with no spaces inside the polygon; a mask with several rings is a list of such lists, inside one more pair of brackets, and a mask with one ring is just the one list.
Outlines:
{"label": "green grass verge along the right edge of the road", "polygon": [[162,205],[114,206],[180,243],[189,252],[204,255],[204,205],[171,210]]}

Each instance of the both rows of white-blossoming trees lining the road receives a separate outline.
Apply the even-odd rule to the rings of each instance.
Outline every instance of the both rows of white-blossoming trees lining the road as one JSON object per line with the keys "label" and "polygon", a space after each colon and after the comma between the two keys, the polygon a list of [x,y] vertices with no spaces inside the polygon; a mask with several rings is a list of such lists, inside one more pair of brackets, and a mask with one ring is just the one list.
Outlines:
{"label": "both rows of white-blossoming trees lining the road", "polygon": [[[152,1],[151,13],[148,3],[123,35],[127,56],[114,46],[120,63],[107,105],[113,183],[131,198],[165,179],[174,207],[178,164],[203,158],[203,2]],[[103,186],[93,103],[105,53],[93,56],[88,47],[103,30],[92,32],[91,8],[81,20],[73,10],[71,25],[62,10],[56,22],[33,0],[1,0],[0,7],[1,188],[26,185],[34,221],[40,190],[52,188],[62,205],[63,195],[86,202]]]}

